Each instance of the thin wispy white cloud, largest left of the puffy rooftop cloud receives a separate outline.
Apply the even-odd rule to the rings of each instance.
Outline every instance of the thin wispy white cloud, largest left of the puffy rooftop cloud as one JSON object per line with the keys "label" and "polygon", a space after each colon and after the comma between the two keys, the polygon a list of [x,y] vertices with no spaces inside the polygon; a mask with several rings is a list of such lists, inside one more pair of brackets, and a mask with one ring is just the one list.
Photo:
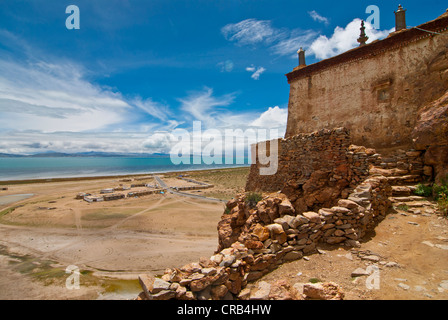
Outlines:
{"label": "thin wispy white cloud, largest left of the puffy rooftop cloud", "polygon": [[221,28],[224,37],[239,45],[270,42],[275,38],[276,31],[269,20],[246,19],[238,23],[230,23]]}

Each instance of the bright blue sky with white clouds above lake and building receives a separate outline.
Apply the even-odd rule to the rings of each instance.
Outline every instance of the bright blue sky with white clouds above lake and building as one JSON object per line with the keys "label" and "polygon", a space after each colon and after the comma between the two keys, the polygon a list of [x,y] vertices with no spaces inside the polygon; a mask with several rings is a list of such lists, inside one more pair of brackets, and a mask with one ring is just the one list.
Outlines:
{"label": "bright blue sky with white clouds above lake and building", "polygon": [[[166,152],[169,134],[286,125],[285,74],[394,27],[416,26],[443,1],[1,0],[0,152]],[[68,30],[66,7],[80,10]]]}

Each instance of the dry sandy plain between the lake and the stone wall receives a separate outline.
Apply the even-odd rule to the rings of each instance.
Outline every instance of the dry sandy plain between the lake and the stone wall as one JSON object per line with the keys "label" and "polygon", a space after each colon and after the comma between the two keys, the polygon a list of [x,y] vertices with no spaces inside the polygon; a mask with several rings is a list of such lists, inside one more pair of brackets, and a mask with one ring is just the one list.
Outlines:
{"label": "dry sandy plain between the lake and the stone wall", "polygon": [[[190,178],[215,185],[201,194],[230,199],[244,187],[247,173],[247,168],[198,171]],[[177,175],[160,177],[170,187],[189,185]],[[163,273],[213,254],[223,202],[169,193],[97,203],[75,199],[79,192],[154,183],[151,177],[120,180],[45,181],[1,191],[3,200],[33,196],[0,202],[0,299],[134,298],[141,291],[139,273]],[[81,270],[79,290],[66,288],[70,265]]]}

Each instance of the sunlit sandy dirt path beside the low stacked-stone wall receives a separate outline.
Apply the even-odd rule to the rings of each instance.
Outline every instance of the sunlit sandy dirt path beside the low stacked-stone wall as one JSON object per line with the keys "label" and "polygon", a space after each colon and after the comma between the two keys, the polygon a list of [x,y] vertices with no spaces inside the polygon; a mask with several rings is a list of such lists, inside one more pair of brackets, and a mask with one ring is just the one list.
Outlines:
{"label": "sunlit sandy dirt path beside the low stacked-stone wall", "polygon": [[[398,210],[381,221],[360,248],[319,248],[320,254],[284,264],[259,281],[288,279],[291,285],[332,281],[350,300],[448,299],[446,217]],[[369,272],[353,276],[357,269]]]}

